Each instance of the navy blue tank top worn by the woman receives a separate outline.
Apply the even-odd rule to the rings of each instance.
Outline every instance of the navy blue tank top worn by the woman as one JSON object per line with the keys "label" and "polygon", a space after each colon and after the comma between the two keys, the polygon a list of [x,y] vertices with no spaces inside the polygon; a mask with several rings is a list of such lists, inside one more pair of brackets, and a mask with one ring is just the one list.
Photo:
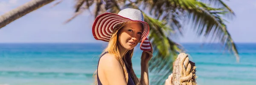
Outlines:
{"label": "navy blue tank top worn by the woman", "polygon": [[[104,54],[102,54],[102,56],[103,55],[105,55],[105,54],[107,54],[108,52],[105,52]],[[102,57],[101,56],[101,57]],[[99,59],[101,58],[101,57],[99,57]],[[98,66],[97,66],[97,82],[98,82],[98,85],[102,85],[102,83],[100,82],[100,80],[99,80],[99,76],[98,76],[98,67],[99,67],[99,62],[98,62]],[[127,67],[126,67],[126,69],[127,69]],[[129,70],[127,70],[127,72],[128,72],[128,83],[127,83],[127,85],[135,85],[134,84],[134,81],[131,79],[131,76],[130,76],[130,71]]]}

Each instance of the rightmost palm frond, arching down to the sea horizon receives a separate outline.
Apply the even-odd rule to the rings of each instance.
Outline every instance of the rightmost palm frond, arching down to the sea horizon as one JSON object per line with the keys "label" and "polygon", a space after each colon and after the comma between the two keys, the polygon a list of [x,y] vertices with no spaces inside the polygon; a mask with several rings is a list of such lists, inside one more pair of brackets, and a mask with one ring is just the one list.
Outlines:
{"label": "rightmost palm frond, arching down to the sea horizon", "polygon": [[[212,36],[220,41],[229,51],[233,52],[236,56],[236,60],[239,61],[238,51],[236,45],[233,42],[227,27],[218,14],[212,14],[208,10],[202,7],[195,7],[196,9],[190,9],[187,11],[187,21],[192,21],[191,25],[195,26],[194,29],[198,35],[205,37]],[[189,22],[188,22],[189,23]]]}

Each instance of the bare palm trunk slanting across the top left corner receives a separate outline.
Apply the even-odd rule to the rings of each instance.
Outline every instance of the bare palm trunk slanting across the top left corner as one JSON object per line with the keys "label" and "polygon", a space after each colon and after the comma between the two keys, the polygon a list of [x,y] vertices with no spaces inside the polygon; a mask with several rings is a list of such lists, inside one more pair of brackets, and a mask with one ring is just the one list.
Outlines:
{"label": "bare palm trunk slanting across the top left corner", "polygon": [[31,0],[28,3],[19,6],[12,11],[9,11],[0,16],[0,28],[12,23],[12,21],[17,20],[18,18],[28,14],[31,11],[34,11],[42,6],[51,3],[54,0]]}

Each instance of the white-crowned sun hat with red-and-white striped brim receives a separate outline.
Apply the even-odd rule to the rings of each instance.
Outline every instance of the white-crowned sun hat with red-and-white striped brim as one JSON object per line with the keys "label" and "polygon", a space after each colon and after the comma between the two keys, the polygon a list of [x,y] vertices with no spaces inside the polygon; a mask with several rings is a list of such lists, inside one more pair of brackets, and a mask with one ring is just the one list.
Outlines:
{"label": "white-crowned sun hat with red-and-white striped brim", "polygon": [[[149,26],[148,23],[144,22],[143,14],[140,10],[134,8],[125,8],[119,11],[118,14],[104,13],[96,17],[93,23],[93,37],[96,40],[102,40],[109,42],[112,37],[113,28],[123,22],[128,21],[138,21],[143,24],[143,33],[141,36],[140,48],[143,47],[143,42],[148,36]],[[143,46],[142,46],[143,45]],[[148,47],[148,46],[147,46]],[[143,51],[148,51],[148,49],[142,49]]]}

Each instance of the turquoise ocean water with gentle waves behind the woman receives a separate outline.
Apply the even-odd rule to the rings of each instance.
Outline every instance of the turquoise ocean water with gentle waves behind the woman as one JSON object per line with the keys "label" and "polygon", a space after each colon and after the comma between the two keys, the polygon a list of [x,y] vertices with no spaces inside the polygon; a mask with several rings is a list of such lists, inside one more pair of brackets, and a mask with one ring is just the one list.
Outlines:
{"label": "turquoise ocean water with gentle waves behind the woman", "polygon": [[[91,85],[106,44],[0,44],[0,85]],[[197,68],[198,85],[256,85],[256,44],[239,43],[240,62],[220,44],[182,44]],[[133,57],[140,77],[140,54]]]}

